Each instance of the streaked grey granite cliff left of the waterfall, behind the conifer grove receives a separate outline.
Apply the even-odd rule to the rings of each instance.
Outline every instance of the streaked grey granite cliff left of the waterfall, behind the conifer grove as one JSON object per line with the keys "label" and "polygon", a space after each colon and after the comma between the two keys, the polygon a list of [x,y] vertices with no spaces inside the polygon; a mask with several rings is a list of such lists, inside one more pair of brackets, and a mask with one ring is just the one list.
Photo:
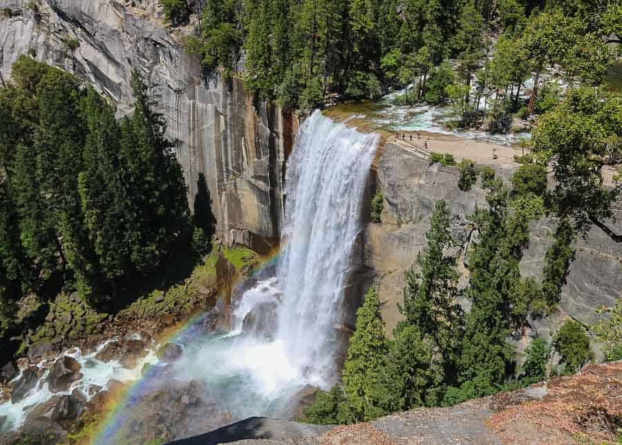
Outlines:
{"label": "streaked grey granite cliff left of the waterfall, behind the conifer grove", "polygon": [[[132,107],[131,71],[140,69],[158,86],[191,208],[203,174],[220,238],[259,251],[270,248],[279,239],[294,118],[265,102],[254,106],[241,80],[223,82],[219,73],[205,73],[158,26],[156,2],[131,2],[136,3],[142,9],[114,0],[0,0],[0,9],[12,10],[12,17],[0,17],[3,78],[28,54],[86,80],[122,116]],[[69,39],[77,39],[79,48],[69,51]]]}

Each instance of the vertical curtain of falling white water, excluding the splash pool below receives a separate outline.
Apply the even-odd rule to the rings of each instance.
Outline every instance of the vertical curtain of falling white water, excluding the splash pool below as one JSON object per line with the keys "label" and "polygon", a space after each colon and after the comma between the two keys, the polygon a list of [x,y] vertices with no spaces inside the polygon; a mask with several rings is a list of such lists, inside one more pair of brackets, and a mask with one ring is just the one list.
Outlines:
{"label": "vertical curtain of falling white water, excluding the splash pool below", "polygon": [[288,165],[276,338],[292,364],[321,385],[334,372],[335,326],[343,323],[344,283],[377,143],[377,135],[316,111],[301,127]]}

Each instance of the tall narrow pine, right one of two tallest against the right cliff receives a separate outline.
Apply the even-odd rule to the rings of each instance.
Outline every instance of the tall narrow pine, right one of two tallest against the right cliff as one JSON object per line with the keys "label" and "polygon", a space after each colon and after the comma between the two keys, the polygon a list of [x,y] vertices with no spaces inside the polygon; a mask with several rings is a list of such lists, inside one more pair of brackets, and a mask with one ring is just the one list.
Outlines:
{"label": "tall narrow pine, right one of two tallest against the right cliff", "polygon": [[490,185],[489,208],[478,208],[471,217],[480,230],[480,241],[468,258],[471,278],[465,293],[473,305],[466,316],[458,361],[464,398],[495,392],[513,363],[513,351],[506,340],[507,307],[520,272],[511,246],[505,242],[509,191],[500,179]]}

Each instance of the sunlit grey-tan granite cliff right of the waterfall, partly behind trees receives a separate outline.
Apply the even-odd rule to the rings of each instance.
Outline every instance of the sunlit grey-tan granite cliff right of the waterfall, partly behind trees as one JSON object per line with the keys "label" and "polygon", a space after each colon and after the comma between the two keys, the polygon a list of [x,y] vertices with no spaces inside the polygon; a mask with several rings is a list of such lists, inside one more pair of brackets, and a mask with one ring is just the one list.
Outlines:
{"label": "sunlit grey-tan granite cliff right of the waterfall, partly behind trees", "polygon": [[[518,168],[517,164],[499,163],[491,159],[488,163],[498,176],[508,178]],[[364,242],[364,262],[375,271],[379,279],[379,291],[384,305],[387,330],[391,332],[399,321],[397,302],[402,301],[404,272],[411,267],[417,253],[426,246],[426,232],[437,199],[445,199],[458,215],[454,229],[469,238],[466,215],[476,205],[485,204],[485,192],[480,183],[469,192],[458,188],[460,172],[458,167],[443,167],[430,163],[427,158],[406,145],[389,142],[381,152],[377,165],[377,185],[381,188],[385,202],[382,214],[383,224],[368,224]],[[607,224],[622,228],[622,210],[614,211],[618,222]],[[531,226],[529,248],[520,264],[525,276],[541,275],[547,247],[552,243],[556,221],[542,219]],[[548,337],[550,330],[561,322],[565,315],[583,323],[594,323],[598,319],[596,308],[612,306],[620,298],[622,289],[622,245],[612,242],[600,228],[592,228],[587,240],[580,240],[575,246],[575,260],[570,266],[567,282],[563,287],[560,313],[547,320],[533,320],[531,328],[538,336]],[[466,282],[466,268],[461,261]],[[529,333],[528,333],[529,334]]]}

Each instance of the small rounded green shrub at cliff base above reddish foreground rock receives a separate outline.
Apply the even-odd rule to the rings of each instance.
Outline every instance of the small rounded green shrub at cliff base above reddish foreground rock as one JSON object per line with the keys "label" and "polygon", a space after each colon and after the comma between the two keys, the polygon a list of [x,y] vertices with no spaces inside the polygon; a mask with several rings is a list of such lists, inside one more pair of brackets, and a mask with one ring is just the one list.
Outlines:
{"label": "small rounded green shrub at cliff base above reddish foreground rock", "polygon": [[564,374],[577,372],[585,363],[594,358],[585,328],[574,320],[568,320],[559,328],[555,334],[554,345],[562,358]]}

